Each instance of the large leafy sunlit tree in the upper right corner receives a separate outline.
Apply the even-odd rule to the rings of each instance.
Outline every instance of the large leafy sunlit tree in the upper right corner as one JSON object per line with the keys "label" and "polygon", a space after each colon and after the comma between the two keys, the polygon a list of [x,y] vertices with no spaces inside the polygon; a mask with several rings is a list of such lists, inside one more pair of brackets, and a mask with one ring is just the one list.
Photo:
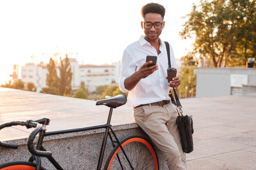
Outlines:
{"label": "large leafy sunlit tree in the upper right corner", "polygon": [[213,67],[245,65],[255,57],[255,0],[201,0],[186,15],[183,39],[196,36],[193,53]]}

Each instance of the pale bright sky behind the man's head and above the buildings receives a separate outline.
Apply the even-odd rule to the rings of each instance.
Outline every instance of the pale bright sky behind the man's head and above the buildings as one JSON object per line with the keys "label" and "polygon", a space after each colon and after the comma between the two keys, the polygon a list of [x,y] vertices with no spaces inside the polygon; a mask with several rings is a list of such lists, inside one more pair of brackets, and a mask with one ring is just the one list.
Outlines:
{"label": "pale bright sky behind the man's head and above the buildings", "polygon": [[[49,62],[54,53],[68,54],[83,64],[121,61],[126,46],[144,35],[141,7],[157,2],[166,9],[160,38],[176,58],[191,50],[194,38],[179,32],[193,2],[200,0],[1,0],[0,84],[10,79],[13,64]],[[33,57],[31,57],[33,56]],[[57,59],[59,61],[59,58]]]}

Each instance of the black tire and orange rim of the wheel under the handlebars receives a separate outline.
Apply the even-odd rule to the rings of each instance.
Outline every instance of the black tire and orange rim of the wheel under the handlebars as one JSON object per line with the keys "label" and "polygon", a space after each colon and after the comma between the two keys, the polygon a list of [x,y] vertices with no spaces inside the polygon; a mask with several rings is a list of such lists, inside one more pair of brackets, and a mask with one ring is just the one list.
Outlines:
{"label": "black tire and orange rim of the wheel under the handlebars", "polygon": [[[13,166],[13,167],[11,167]],[[15,166],[28,166],[28,168],[35,168],[36,169],[36,163],[29,162],[29,161],[13,161],[13,162],[7,162],[0,165],[0,170],[5,170],[9,168],[8,170],[16,170],[17,168]],[[13,169],[10,169],[13,168]],[[20,168],[18,168],[20,170]],[[46,170],[41,166],[40,170]]]}

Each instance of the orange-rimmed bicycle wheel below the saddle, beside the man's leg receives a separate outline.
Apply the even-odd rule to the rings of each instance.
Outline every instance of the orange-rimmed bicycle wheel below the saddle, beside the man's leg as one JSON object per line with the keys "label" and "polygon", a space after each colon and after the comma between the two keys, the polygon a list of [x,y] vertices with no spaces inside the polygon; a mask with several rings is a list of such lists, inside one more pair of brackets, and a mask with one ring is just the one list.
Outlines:
{"label": "orange-rimmed bicycle wheel below the saddle, beside the man's leg", "polygon": [[[134,170],[159,170],[157,153],[146,137],[133,135],[123,139],[120,143]],[[120,146],[115,146],[108,156],[104,170],[130,169],[132,168]]]}

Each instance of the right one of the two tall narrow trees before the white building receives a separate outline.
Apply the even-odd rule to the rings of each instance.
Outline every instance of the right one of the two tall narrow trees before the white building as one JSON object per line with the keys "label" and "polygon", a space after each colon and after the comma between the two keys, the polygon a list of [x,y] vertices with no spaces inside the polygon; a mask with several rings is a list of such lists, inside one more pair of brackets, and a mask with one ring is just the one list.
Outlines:
{"label": "right one of the two tall narrow trees before the white building", "polygon": [[59,79],[59,92],[61,96],[71,96],[72,93],[72,72],[71,72],[71,66],[70,61],[67,57],[65,59],[60,59],[61,65],[59,67],[60,69],[60,79]]}

